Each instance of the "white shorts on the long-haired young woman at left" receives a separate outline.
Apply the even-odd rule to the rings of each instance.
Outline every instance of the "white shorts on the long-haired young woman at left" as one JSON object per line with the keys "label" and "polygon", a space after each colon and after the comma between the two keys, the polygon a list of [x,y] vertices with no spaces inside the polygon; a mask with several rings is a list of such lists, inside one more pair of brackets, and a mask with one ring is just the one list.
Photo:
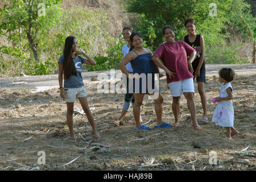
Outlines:
{"label": "white shorts on the long-haired young woman at left", "polygon": [[81,86],[79,88],[65,88],[65,101],[66,102],[75,102],[78,97],[86,97],[86,89],[85,86]]}

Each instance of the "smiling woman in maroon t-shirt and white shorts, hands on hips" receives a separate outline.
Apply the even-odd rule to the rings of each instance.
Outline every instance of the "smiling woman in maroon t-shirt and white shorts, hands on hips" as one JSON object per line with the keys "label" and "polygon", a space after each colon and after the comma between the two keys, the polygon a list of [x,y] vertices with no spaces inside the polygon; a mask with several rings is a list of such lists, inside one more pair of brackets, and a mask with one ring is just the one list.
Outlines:
{"label": "smiling woman in maroon t-shirt and white shorts, hands on hips", "polygon": [[[190,110],[192,126],[195,130],[202,128],[197,123],[196,107],[194,100],[193,67],[191,63],[195,59],[195,50],[183,41],[175,41],[174,29],[171,26],[163,27],[163,36],[166,43],[157,48],[152,57],[152,61],[157,67],[166,72],[167,84],[173,96],[173,113],[175,123],[179,126],[179,100],[183,92],[187,99],[187,107]],[[189,60],[187,60],[189,55]],[[161,60],[163,63],[161,63]]]}

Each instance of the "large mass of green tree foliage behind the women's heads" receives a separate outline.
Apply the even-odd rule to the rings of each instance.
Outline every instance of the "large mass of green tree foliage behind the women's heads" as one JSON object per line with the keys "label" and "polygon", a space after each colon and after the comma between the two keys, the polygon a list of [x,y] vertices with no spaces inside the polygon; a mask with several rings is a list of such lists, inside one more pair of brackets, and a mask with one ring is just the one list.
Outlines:
{"label": "large mass of green tree foliage behind the women's heads", "polygon": [[[171,25],[175,35],[181,40],[186,35],[184,22],[194,18],[197,22],[197,32],[205,37],[207,46],[223,44],[229,36],[229,24],[239,26],[238,13],[250,16],[251,24],[255,18],[250,14],[250,5],[244,0],[130,0],[126,2],[126,11],[141,14],[138,20],[138,31],[143,35],[147,44],[157,47],[162,43],[162,27]],[[217,16],[211,16],[210,11],[215,3]],[[156,35],[154,41],[150,35]]]}

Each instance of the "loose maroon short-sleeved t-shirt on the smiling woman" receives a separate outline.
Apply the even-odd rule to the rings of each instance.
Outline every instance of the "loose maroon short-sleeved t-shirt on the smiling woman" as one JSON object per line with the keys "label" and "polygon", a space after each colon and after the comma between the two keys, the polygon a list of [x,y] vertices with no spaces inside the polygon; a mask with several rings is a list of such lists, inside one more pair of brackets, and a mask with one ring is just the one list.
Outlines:
{"label": "loose maroon short-sleeved t-shirt on the smiling woman", "polygon": [[166,75],[167,84],[173,81],[193,78],[193,74],[190,73],[189,67],[187,66],[187,55],[190,55],[190,53],[194,51],[194,48],[183,41],[175,41],[174,43],[166,42],[158,46],[153,56],[161,59],[166,68],[176,73],[174,78],[170,78],[169,75]]}

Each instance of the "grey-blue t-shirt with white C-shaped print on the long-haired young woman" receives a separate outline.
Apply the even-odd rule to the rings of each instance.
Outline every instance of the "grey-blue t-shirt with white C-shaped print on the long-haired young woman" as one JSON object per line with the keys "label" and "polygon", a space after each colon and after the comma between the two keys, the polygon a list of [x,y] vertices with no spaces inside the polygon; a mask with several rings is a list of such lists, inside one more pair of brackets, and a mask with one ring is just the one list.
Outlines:
{"label": "grey-blue t-shirt with white C-shaped print on the long-haired young woman", "polygon": [[[82,71],[82,63],[85,63],[85,58],[82,56],[75,56],[73,58],[74,64],[75,64],[75,69],[77,70],[77,76],[75,75],[70,75],[69,79],[65,80],[64,79],[64,88],[79,88],[81,86],[85,86],[83,84],[83,78],[81,75]],[[58,63],[64,62],[64,55],[61,55],[59,57]]]}

